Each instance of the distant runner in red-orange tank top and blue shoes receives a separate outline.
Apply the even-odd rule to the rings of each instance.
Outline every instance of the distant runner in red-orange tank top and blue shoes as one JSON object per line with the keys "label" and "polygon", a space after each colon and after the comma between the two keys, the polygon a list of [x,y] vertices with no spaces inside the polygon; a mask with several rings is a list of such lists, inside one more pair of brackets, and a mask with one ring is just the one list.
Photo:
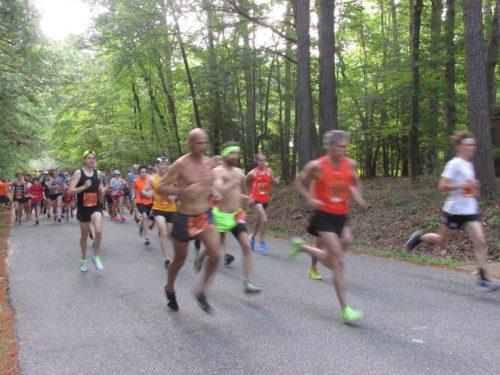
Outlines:
{"label": "distant runner in red-orange tank top and blue shoes", "polygon": [[255,250],[255,239],[260,238],[259,251],[265,253],[268,246],[265,242],[266,229],[269,223],[266,210],[269,204],[271,184],[278,184],[279,180],[273,177],[271,168],[266,167],[266,155],[259,153],[256,156],[257,167],[248,172],[246,183],[251,188],[251,196],[254,200],[257,219],[253,232],[249,237],[250,248]]}

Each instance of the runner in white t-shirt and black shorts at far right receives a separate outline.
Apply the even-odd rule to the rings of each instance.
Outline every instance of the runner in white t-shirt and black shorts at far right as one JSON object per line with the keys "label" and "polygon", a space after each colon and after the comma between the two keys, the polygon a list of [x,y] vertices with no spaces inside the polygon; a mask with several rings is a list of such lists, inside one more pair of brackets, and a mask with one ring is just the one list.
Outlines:
{"label": "runner in white t-shirt and black shorts at far right", "polygon": [[488,245],[483,227],[479,221],[477,197],[479,181],[476,180],[471,160],[476,152],[476,140],[471,132],[456,132],[451,137],[456,156],[446,163],[439,180],[439,191],[447,192],[448,198],[443,205],[443,216],[437,233],[414,232],[406,242],[406,250],[424,242],[444,248],[454,230],[463,228],[471,237],[474,257],[478,267],[478,285],[485,290],[497,290],[500,286],[487,278],[486,261]]}

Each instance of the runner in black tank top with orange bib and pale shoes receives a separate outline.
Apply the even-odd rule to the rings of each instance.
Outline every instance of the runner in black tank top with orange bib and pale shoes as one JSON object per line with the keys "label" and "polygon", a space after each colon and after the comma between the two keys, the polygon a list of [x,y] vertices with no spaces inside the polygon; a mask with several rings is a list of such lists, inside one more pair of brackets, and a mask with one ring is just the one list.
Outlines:
{"label": "runner in black tank top with orange bib and pale shoes", "polygon": [[94,256],[92,261],[97,270],[103,270],[104,266],[100,257],[102,240],[102,206],[99,195],[104,193],[102,174],[95,169],[96,160],[93,151],[83,153],[83,168],[77,169],[71,178],[69,193],[76,195],[77,212],[76,218],[80,222],[80,249],[82,258],[80,260],[80,271],[88,271],[87,260],[87,237],[89,236],[89,225],[94,225]]}

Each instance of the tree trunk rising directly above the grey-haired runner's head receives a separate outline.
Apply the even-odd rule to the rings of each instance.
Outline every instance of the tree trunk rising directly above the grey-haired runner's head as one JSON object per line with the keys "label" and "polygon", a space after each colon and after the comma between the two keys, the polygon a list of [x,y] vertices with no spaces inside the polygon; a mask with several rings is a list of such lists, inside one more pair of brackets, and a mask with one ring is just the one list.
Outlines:
{"label": "tree trunk rising directly above the grey-haired runner's head", "polygon": [[319,131],[320,138],[338,129],[337,87],[335,80],[335,0],[320,0],[319,9]]}

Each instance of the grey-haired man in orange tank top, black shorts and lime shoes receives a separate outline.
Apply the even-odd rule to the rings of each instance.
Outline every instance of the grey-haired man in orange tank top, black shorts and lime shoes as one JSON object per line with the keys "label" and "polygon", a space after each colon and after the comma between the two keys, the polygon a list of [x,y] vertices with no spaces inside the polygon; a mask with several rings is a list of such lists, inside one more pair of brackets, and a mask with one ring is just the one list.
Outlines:
{"label": "grey-haired man in orange tank top, black shorts and lime shoes", "polygon": [[326,155],[310,161],[295,183],[300,195],[314,209],[307,231],[319,237],[324,248],[305,245],[301,238],[294,238],[289,254],[290,259],[294,259],[301,251],[307,252],[332,270],[333,285],[346,323],[363,317],[361,311],[349,307],[345,296],[344,249],[351,242],[351,231],[346,225],[350,197],[361,207],[365,206],[355,170],[358,163],[345,156],[348,138],[341,130],[325,133]]}

